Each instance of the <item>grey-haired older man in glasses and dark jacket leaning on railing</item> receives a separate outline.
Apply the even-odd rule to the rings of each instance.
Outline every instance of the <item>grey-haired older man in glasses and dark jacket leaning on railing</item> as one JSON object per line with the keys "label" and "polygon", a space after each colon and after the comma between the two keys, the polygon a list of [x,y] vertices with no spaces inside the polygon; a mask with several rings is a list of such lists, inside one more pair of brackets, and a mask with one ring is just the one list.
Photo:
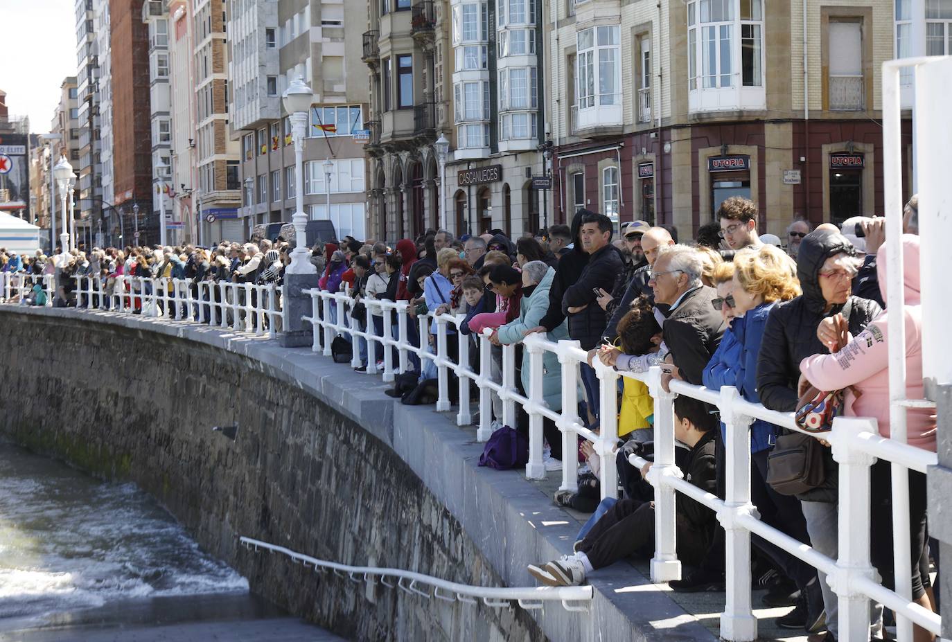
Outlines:
{"label": "grey-haired older man in glasses and dark jacket leaning on railing", "polygon": [[701,282],[704,264],[700,253],[687,245],[662,248],[651,270],[648,282],[656,304],[667,304],[664,321],[664,344],[669,350],[665,359],[673,363],[671,378],[695,385],[704,384],[704,367],[717,350],[724,334],[724,319],[711,301],[717,290]]}

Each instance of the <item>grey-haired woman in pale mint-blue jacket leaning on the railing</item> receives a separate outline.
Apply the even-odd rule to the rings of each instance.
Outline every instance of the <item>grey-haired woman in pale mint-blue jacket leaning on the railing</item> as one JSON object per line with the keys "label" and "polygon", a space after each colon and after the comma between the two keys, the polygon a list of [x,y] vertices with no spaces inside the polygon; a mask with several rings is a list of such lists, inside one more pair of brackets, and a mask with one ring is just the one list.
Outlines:
{"label": "grey-haired woman in pale mint-blue jacket leaning on the railing", "polygon": [[[555,270],[541,261],[531,261],[523,265],[523,298],[520,302],[519,319],[501,325],[493,333],[500,343],[517,343],[526,336],[526,331],[537,327],[548,312],[548,291],[555,278]],[[568,339],[568,325],[565,320],[545,335],[545,339],[558,341]],[[523,350],[522,365],[523,389],[529,391],[529,351]],[[559,357],[553,352],[543,356],[543,399],[545,404],[555,410],[562,409],[562,366]],[[552,457],[562,458],[562,435],[555,423],[545,418],[543,431]]]}

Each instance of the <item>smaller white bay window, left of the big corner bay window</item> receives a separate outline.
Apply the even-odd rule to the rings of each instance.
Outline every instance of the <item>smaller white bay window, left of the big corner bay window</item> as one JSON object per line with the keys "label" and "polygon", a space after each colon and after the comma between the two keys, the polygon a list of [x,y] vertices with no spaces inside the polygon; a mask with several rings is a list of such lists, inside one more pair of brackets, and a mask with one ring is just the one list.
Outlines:
{"label": "smaller white bay window, left of the big corner bay window", "polygon": [[620,125],[622,76],[620,28],[593,27],[576,35],[576,97],[579,126]]}

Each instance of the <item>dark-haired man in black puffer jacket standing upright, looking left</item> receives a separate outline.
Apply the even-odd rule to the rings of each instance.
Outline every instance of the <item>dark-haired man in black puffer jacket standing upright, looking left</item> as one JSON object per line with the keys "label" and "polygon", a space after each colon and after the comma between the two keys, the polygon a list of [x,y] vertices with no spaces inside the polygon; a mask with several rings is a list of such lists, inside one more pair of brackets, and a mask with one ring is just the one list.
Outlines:
{"label": "dark-haired man in black puffer jacket standing upright, looking left", "polygon": [[[597,299],[602,290],[611,289],[625,267],[622,253],[611,244],[611,227],[611,219],[604,214],[592,212],[583,216],[579,236],[582,249],[588,255],[588,264],[579,280],[565,288],[562,298],[562,310],[568,317],[568,336],[578,340],[583,350],[591,350],[602,340],[608,320]],[[599,384],[595,370],[583,363],[581,373],[588,408],[598,418]]]}

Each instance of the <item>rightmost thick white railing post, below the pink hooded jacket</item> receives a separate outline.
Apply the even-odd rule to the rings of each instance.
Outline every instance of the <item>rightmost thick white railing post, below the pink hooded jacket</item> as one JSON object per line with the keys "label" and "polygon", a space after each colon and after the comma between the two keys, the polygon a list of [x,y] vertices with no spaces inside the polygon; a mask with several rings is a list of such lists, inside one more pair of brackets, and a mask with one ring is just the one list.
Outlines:
{"label": "rightmost thick white railing post, below the pink hooded jacket", "polygon": [[827,575],[826,581],[837,594],[841,640],[869,639],[869,598],[855,588],[854,580],[876,576],[869,560],[869,468],[875,459],[852,447],[861,433],[879,435],[876,420],[835,418],[828,438],[833,459],[840,464],[840,504],[837,574]]}

